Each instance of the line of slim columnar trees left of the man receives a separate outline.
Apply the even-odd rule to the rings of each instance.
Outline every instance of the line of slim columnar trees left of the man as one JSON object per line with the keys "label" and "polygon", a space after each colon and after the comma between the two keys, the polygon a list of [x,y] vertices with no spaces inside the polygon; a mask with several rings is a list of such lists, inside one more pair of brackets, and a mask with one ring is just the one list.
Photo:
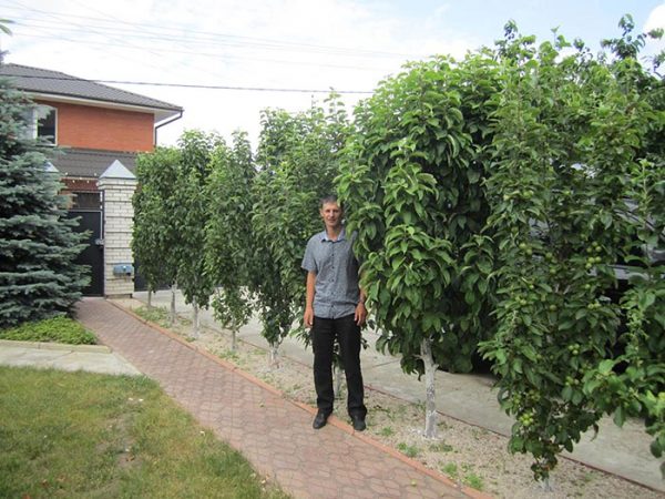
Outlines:
{"label": "line of slim columnar trees left of the man", "polygon": [[336,96],[328,104],[265,111],[256,155],[245,133],[228,145],[188,131],[177,147],[140,156],[134,254],[151,291],[177,285],[194,305],[195,335],[198,307],[212,305],[235,347],[257,308],[277,363],[300,316],[303,251],[320,231],[318,200],[332,192],[349,128]]}

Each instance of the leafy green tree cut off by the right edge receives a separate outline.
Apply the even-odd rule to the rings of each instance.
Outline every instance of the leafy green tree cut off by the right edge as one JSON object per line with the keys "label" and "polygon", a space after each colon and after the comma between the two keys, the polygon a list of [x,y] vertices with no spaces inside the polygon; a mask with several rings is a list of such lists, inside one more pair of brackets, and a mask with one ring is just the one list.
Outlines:
{"label": "leafy green tree cut off by the right edge", "polygon": [[[622,355],[606,359],[584,375],[584,390],[594,397],[600,410],[614,413],[621,425],[626,416],[644,419],[654,437],[652,454],[665,452],[665,83],[656,78],[665,61],[665,51],[652,59],[656,74],[637,63],[640,50],[649,38],[662,38],[663,29],[632,34],[630,16],[620,21],[618,39],[603,40],[603,47],[616,57],[613,73],[622,86],[638,92],[647,102],[646,129],[640,151],[630,165],[627,185],[633,235],[625,252],[631,286],[621,301],[625,333],[620,338]],[[661,462],[665,477],[665,461]]]}

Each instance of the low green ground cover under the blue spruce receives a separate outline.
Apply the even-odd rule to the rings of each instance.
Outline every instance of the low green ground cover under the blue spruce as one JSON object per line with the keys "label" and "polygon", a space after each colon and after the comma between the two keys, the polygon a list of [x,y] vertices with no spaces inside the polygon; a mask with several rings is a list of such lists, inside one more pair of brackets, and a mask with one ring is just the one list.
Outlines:
{"label": "low green ground cover under the blue spruce", "polygon": [[0,339],[51,342],[68,345],[94,345],[94,334],[80,323],[64,316],[23,323],[18,327],[0,329]]}

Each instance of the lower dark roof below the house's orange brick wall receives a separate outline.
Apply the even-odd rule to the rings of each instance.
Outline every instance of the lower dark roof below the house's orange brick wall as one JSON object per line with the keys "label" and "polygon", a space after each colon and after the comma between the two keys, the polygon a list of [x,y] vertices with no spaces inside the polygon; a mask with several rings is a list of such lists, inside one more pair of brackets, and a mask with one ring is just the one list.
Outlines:
{"label": "lower dark roof below the house's orange brick wall", "polygon": [[51,163],[63,177],[99,179],[115,160],[120,161],[130,172],[136,173],[136,153],[133,152],[61,147]]}

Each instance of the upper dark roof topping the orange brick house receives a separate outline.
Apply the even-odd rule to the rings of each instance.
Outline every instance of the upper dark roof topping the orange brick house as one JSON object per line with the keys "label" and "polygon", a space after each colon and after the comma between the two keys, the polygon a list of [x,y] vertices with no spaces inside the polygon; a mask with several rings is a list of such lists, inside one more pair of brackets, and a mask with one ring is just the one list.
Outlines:
{"label": "upper dark roof topping the orange brick house", "polygon": [[[0,64],[0,75],[10,77],[12,83],[25,92],[79,98],[113,104],[139,105],[151,110],[171,111],[170,115],[175,115],[183,110],[181,106],[168,102],[83,80],[59,71],[21,64]],[[163,114],[163,112],[160,114]]]}

